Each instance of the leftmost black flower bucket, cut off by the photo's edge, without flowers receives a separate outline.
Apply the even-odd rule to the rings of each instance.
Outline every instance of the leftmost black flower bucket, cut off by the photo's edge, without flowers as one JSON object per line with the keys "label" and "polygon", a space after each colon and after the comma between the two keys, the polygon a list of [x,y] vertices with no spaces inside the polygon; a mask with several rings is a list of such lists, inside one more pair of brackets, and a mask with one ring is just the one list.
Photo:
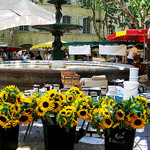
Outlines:
{"label": "leftmost black flower bucket, cut off by the photo's edge, without flowers", "polygon": [[4,129],[0,126],[0,150],[16,150],[18,148],[19,125]]}

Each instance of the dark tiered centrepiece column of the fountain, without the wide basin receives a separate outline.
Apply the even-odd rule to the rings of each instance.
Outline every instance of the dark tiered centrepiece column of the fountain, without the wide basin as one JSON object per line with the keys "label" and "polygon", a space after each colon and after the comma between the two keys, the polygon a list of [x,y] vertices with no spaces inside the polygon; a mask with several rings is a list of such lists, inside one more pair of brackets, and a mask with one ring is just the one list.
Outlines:
{"label": "dark tiered centrepiece column of the fountain, without the wide basin", "polygon": [[52,60],[64,60],[64,51],[62,50],[61,36],[66,31],[80,30],[82,26],[75,24],[60,23],[62,18],[61,5],[66,4],[68,0],[48,0],[48,3],[54,4],[56,8],[56,23],[50,25],[35,25],[33,28],[45,30],[52,33],[54,36],[53,50],[51,51]]}

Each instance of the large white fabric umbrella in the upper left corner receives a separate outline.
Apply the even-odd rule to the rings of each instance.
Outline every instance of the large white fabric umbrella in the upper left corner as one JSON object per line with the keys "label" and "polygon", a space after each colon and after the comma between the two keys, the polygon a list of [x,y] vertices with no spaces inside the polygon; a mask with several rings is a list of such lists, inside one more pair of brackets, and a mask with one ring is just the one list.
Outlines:
{"label": "large white fabric umbrella in the upper left corner", "polygon": [[55,14],[29,0],[0,0],[0,30],[55,22]]}

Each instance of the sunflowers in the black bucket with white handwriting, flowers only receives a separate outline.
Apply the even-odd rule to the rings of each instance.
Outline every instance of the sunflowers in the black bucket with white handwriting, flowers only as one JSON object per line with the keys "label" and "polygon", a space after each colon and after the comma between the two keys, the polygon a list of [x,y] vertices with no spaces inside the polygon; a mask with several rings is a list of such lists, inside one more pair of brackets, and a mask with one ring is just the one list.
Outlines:
{"label": "sunflowers in the black bucket with white handwriting, flowers only", "polygon": [[140,129],[150,121],[147,99],[136,96],[129,100],[114,100],[100,97],[92,111],[92,127],[97,129]]}

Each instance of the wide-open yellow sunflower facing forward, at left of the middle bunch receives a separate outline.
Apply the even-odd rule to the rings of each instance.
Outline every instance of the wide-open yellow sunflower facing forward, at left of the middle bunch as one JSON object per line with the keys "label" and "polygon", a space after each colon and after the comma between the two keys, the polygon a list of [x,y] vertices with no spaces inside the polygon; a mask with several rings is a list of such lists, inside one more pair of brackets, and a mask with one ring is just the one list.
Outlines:
{"label": "wide-open yellow sunflower facing forward, at left of the middle bunch", "polygon": [[54,103],[53,101],[49,101],[48,99],[44,98],[39,104],[39,107],[41,110],[47,112],[47,111],[52,111],[54,108]]}

